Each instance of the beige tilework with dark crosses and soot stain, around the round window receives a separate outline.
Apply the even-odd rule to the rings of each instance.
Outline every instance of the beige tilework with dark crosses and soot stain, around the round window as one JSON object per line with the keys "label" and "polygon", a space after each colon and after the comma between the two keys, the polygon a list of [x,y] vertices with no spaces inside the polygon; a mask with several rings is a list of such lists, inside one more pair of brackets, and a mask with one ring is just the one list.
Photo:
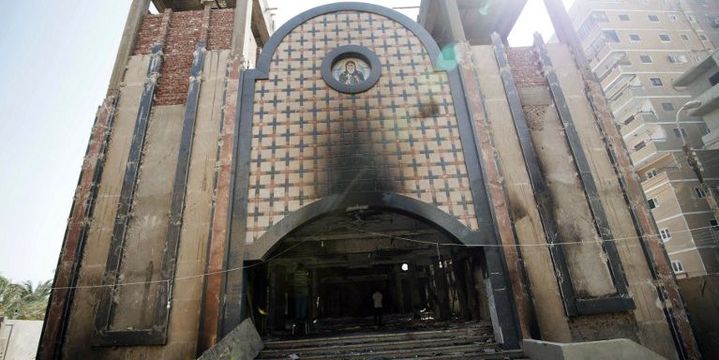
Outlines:
{"label": "beige tilework with dark crosses and soot stain, around the round window", "polygon": [[[322,79],[325,54],[360,45],[380,59],[366,92]],[[308,20],[255,84],[246,241],[324,196],[388,191],[434,204],[477,229],[447,74],[408,29],[366,12]]]}

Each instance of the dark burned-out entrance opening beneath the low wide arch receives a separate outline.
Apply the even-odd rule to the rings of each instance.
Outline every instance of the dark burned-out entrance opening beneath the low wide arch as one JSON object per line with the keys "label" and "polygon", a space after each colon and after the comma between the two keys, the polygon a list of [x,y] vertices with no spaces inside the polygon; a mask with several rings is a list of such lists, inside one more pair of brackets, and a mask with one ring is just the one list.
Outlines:
{"label": "dark burned-out entrance opening beneath the low wide arch", "polygon": [[361,208],[325,215],[289,232],[265,258],[246,264],[247,315],[263,336],[490,319],[481,248],[411,214]]}

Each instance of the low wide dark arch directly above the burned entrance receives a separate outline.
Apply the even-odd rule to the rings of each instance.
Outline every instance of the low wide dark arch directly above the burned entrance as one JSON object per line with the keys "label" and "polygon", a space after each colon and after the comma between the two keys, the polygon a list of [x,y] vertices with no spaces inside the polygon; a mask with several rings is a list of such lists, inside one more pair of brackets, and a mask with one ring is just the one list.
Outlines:
{"label": "low wide dark arch directly above the burned entrance", "polygon": [[267,232],[253,244],[252,250],[247,254],[250,258],[248,260],[265,260],[267,255],[278,245],[282,238],[294,229],[322,216],[351,207],[389,209],[420,218],[436,225],[468,247],[489,244],[489,239],[483,236],[483,233],[486,231],[472,231],[454,216],[447,214],[431,204],[404,195],[388,192],[334,194],[304,206],[272,225]]}

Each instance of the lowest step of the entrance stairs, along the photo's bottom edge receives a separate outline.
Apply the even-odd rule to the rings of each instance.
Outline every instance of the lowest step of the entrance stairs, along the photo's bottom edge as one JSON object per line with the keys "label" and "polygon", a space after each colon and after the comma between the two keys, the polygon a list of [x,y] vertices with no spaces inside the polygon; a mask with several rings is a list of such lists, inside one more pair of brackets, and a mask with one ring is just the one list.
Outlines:
{"label": "lowest step of the entrance stairs, along the photo's bottom edge", "polygon": [[[320,360],[320,359],[361,359],[361,358],[427,358],[436,359],[438,356],[454,355],[454,356],[466,356],[465,353],[478,353],[477,349],[480,348],[477,344],[471,345],[458,345],[458,346],[438,346],[426,349],[398,349],[398,350],[384,350],[384,351],[372,351],[372,352],[334,352],[331,354],[318,354],[303,356],[301,353],[297,353],[301,360]],[[260,353],[258,359],[264,360],[281,360],[287,359],[289,354],[294,352],[288,351],[279,357],[265,357],[263,353]],[[497,353],[490,353],[497,354]]]}

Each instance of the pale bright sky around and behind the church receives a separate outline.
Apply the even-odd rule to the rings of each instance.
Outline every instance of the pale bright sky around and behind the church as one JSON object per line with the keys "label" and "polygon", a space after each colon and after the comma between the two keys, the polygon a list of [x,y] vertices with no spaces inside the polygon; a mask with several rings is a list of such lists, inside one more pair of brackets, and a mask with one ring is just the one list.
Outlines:
{"label": "pale bright sky around and behind the church", "polygon": [[[53,277],[130,2],[11,1],[0,12],[0,274],[13,281]],[[276,27],[331,2],[269,0]],[[417,9],[399,10],[416,19]],[[535,31],[552,35],[542,1],[528,0],[510,45],[531,44]]]}

